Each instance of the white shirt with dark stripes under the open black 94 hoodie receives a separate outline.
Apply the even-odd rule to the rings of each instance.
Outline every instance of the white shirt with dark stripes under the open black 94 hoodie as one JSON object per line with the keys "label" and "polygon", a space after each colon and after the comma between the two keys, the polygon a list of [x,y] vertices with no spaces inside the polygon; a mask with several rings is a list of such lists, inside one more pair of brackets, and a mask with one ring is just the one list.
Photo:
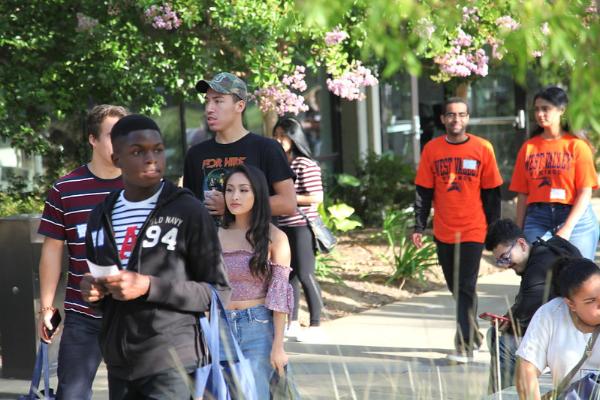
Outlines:
{"label": "white shirt with dark stripes under the open black 94 hoodie", "polygon": [[140,229],[146,222],[148,215],[156,207],[161,191],[162,186],[151,197],[142,201],[127,200],[124,196],[124,190],[119,194],[112,210],[111,219],[123,269],[127,269],[127,263],[129,257],[131,257],[131,251],[135,247],[137,235],[140,233]]}

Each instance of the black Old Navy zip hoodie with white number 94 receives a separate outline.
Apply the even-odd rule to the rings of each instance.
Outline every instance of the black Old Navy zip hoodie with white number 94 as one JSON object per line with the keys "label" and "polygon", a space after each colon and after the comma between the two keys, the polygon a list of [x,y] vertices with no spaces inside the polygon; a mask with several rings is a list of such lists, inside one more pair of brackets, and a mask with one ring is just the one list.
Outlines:
{"label": "black Old Navy zip hoodie with white number 94", "polygon": [[[98,265],[121,265],[111,224],[118,196],[119,191],[111,193],[90,214],[86,252]],[[127,269],[150,276],[150,289],[134,300],[106,296],[99,302],[108,372],[133,380],[176,365],[198,365],[204,355],[198,317],[210,307],[211,286],[224,301],[231,289],[215,225],[189,190],[165,182]]]}

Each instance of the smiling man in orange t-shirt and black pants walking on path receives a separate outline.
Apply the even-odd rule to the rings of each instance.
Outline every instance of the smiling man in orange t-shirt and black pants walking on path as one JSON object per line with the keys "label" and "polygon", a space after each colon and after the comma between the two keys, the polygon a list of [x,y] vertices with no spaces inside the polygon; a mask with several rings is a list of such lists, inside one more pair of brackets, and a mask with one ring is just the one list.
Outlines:
{"label": "smiling man in orange t-shirt and black pants walking on path", "polygon": [[466,133],[468,122],[465,100],[449,99],[442,115],[446,135],[427,143],[421,154],[415,179],[416,222],[412,235],[415,246],[422,247],[423,230],[433,203],[437,255],[446,285],[457,300],[456,353],[448,355],[448,359],[462,363],[471,361],[481,345],[476,320],[477,275],[487,226],[500,216],[502,184],[492,145]]}

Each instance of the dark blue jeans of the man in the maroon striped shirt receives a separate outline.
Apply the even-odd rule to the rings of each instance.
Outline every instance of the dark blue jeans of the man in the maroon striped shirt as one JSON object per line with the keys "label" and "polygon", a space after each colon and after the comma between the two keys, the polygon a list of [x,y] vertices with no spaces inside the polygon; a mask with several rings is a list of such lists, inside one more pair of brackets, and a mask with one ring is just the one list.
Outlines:
{"label": "dark blue jeans of the man in the maroon striped shirt", "polygon": [[59,400],[89,400],[92,383],[102,360],[98,335],[101,319],[74,311],[65,312],[65,323],[58,350]]}

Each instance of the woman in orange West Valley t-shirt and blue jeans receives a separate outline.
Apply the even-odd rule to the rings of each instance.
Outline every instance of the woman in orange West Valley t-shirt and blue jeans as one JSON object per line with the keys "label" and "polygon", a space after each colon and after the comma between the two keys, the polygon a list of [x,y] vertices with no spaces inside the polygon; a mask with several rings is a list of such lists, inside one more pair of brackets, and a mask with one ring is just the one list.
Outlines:
{"label": "woman in orange West Valley t-shirt and blue jeans", "polygon": [[555,86],[534,97],[538,129],[517,155],[510,190],[517,192],[516,223],[529,242],[559,235],[594,260],[598,221],[590,204],[598,187],[592,149],[561,124],[567,93]]}

